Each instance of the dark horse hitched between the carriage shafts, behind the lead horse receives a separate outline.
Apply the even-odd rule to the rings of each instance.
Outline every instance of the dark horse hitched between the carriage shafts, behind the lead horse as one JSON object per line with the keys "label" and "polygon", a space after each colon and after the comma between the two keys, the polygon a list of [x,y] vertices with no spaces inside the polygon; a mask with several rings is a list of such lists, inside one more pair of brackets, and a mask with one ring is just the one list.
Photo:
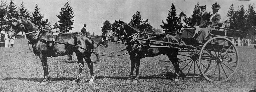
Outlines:
{"label": "dark horse hitched between the carriage shafts, behind the lead horse", "polygon": [[[146,33],[138,31],[136,28],[128,25],[127,23],[124,23],[123,21],[116,21],[115,22],[120,25],[118,29],[115,30],[115,33],[119,34],[119,36],[124,35],[124,38],[127,42],[127,51],[130,52],[130,59],[131,59],[131,72],[130,76],[127,80],[127,82],[132,81],[133,77],[133,70],[136,69],[136,77],[132,81],[134,83],[138,82],[139,79],[139,67],[140,67],[140,59],[144,57],[154,57],[161,54],[167,55],[170,61],[172,62],[174,69],[175,69],[175,79],[174,81],[179,81],[179,63],[178,63],[178,49],[176,48],[168,48],[168,47],[149,47],[149,42],[146,42],[144,40],[138,40],[139,39],[150,39],[150,40],[156,40],[156,41],[164,41],[164,42],[173,42],[178,43],[176,38],[169,34],[160,34],[155,36],[149,36]],[[117,32],[118,31],[118,32]],[[166,44],[166,43],[160,43],[160,42],[150,42],[150,45],[155,46],[173,46],[173,44]]]}

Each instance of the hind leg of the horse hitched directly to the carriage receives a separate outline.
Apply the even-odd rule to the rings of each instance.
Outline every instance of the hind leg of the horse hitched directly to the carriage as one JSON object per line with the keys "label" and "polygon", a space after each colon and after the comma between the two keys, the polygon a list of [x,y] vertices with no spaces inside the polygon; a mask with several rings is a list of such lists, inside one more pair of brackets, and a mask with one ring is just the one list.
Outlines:
{"label": "hind leg of the horse hitched directly to the carriage", "polygon": [[180,68],[179,68],[178,57],[177,55],[167,55],[167,56],[174,66],[175,75],[176,75],[174,81],[179,81]]}

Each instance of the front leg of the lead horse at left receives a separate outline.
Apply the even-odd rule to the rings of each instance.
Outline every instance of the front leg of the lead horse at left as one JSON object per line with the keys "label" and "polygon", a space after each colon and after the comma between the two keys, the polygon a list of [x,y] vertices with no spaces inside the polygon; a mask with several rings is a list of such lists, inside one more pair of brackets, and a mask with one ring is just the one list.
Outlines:
{"label": "front leg of the lead horse at left", "polygon": [[47,58],[44,55],[40,55],[40,59],[42,62],[43,70],[44,70],[44,80],[41,82],[41,85],[45,85],[49,82],[49,71],[48,71],[48,64],[47,64]]}

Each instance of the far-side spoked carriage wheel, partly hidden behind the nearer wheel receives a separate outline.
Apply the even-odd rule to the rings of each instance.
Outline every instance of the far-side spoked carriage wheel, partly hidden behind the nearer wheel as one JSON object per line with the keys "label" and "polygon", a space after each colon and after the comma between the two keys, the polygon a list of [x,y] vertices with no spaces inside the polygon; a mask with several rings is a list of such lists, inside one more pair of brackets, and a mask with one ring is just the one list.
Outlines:
{"label": "far-side spoked carriage wheel, partly hidden behind the nearer wheel", "polygon": [[189,48],[189,52],[179,54],[181,60],[179,61],[180,72],[186,77],[198,77],[201,75],[199,70],[199,53],[200,50],[196,48]]}

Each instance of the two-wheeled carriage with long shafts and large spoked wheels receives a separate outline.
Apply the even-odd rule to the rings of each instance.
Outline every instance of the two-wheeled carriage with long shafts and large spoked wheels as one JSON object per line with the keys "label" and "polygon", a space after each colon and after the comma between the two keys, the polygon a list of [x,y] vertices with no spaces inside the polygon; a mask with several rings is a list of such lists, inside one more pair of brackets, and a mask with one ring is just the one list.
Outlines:
{"label": "two-wheeled carriage with long shafts and large spoked wheels", "polygon": [[137,39],[149,42],[160,42],[174,44],[175,46],[154,46],[151,48],[172,47],[178,48],[180,55],[180,72],[187,77],[204,76],[211,82],[224,82],[232,77],[238,67],[238,51],[231,41],[234,32],[239,30],[229,29],[229,24],[225,27],[211,28],[209,40],[200,44],[193,37],[195,28],[182,30],[181,42],[172,43],[155,41],[149,39]]}

